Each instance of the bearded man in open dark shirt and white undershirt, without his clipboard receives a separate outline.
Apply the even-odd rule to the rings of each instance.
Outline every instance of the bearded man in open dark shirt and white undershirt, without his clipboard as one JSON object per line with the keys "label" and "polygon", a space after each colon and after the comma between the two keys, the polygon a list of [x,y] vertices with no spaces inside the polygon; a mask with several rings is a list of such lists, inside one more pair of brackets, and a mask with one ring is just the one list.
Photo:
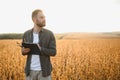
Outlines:
{"label": "bearded man in open dark shirt and white undershirt, without his clipboard", "polygon": [[34,10],[32,20],[34,26],[24,33],[22,42],[36,43],[40,52],[22,47],[22,54],[27,55],[26,80],[51,80],[50,56],[56,55],[56,40],[50,30],[43,28],[45,26],[45,16],[42,10]]}

